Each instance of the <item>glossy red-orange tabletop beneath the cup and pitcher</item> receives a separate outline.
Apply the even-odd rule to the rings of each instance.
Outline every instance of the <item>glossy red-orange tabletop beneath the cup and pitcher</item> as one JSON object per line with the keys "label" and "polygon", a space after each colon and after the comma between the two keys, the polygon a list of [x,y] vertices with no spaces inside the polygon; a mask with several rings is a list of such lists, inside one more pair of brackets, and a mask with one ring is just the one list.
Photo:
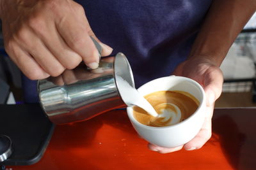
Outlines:
{"label": "glossy red-orange tabletop beneath the cup and pitcher", "polygon": [[[256,108],[216,109],[212,138],[200,150],[147,149],[125,110],[58,125],[42,159],[13,169],[256,169]],[[8,167],[10,168],[10,167]]]}

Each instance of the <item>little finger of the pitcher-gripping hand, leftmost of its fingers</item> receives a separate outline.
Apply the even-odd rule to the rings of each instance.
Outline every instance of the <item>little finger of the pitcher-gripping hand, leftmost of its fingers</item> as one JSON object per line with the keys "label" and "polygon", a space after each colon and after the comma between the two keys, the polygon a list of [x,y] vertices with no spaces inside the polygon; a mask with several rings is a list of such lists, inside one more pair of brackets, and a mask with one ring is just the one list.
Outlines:
{"label": "little finger of the pitcher-gripping hand, leftmost of its fingers", "polygon": [[15,64],[19,67],[20,71],[24,73],[31,80],[44,79],[49,76],[42,67],[29,55],[20,48],[19,45],[13,43],[8,49],[8,54]]}

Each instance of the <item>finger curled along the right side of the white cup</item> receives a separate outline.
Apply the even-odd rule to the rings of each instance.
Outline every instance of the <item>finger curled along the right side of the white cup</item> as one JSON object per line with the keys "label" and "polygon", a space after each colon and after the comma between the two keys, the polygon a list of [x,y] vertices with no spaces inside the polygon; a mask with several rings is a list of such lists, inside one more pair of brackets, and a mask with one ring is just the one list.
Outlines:
{"label": "finger curled along the right side of the white cup", "polygon": [[212,107],[207,107],[207,110],[205,110],[209,114],[207,115],[207,117],[205,117],[204,124],[202,125],[202,128],[200,129],[198,134],[196,134],[195,138],[191,139],[191,141],[189,141],[184,145],[185,150],[196,150],[196,149],[202,148],[202,146],[204,146],[204,144],[211,138],[211,135],[212,135],[211,118],[212,118],[212,112],[213,112]]}

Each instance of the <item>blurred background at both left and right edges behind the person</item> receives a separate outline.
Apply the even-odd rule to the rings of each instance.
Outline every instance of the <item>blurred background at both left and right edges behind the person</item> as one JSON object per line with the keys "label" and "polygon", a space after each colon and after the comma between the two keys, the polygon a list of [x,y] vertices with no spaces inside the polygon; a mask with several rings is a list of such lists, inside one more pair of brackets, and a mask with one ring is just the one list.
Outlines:
{"label": "blurred background at both left and right edges behind the person", "polygon": [[[4,51],[1,32],[0,30],[0,104],[20,104],[23,103],[20,70]],[[256,106],[255,65],[256,13],[237,36],[221,65],[225,82],[223,93],[216,101],[216,108]]]}

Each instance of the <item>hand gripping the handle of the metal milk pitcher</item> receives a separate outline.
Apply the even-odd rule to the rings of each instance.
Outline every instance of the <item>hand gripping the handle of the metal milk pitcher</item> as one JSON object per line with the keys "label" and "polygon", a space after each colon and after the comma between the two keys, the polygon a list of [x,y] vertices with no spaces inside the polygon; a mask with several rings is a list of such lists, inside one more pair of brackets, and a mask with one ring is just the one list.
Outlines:
{"label": "hand gripping the handle of the metal milk pitcher", "polygon": [[[0,1],[4,47],[20,70],[32,80],[58,76],[82,60],[95,69],[99,53],[81,5],[72,0]],[[102,56],[112,48],[102,46]]]}

